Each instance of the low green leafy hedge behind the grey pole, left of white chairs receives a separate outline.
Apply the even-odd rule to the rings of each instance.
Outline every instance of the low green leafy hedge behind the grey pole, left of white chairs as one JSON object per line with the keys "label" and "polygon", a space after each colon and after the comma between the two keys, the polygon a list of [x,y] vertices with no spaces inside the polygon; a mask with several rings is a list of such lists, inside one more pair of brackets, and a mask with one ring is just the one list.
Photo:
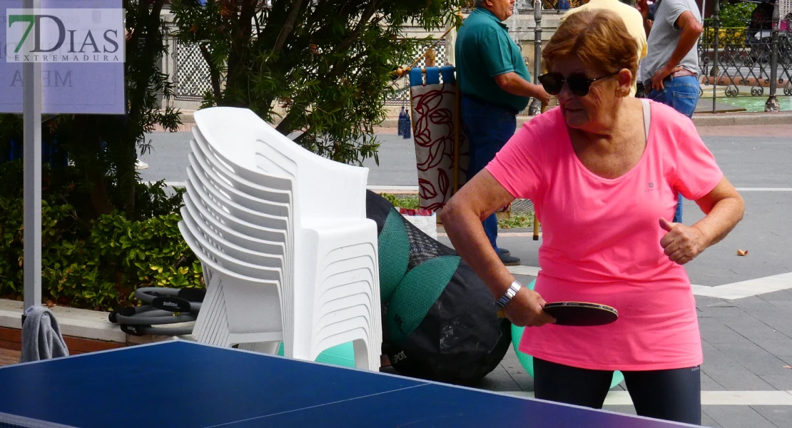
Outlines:
{"label": "low green leafy hedge behind the grey pole, left of white chairs", "polygon": [[[17,165],[0,165],[3,171],[9,168]],[[23,200],[15,190],[0,190],[0,297],[4,298],[21,298],[23,290]],[[148,204],[143,218],[113,212],[86,222],[68,202],[80,199],[80,192],[68,181],[44,192],[44,301],[109,310],[133,305],[134,290],[141,286],[204,286],[200,262],[177,225],[181,191],[168,195],[162,183],[140,184],[137,194]]]}

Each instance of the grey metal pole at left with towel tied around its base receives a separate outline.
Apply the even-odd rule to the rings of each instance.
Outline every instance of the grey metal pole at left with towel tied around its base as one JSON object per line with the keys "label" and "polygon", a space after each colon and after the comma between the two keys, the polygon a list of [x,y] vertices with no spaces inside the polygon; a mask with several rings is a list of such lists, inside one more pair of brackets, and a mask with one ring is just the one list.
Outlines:
{"label": "grey metal pole at left with towel tied around its base", "polygon": [[[24,0],[22,7],[39,13],[40,3],[41,0]],[[31,40],[33,37],[28,38],[28,43]],[[25,48],[25,51],[32,49]],[[27,310],[31,306],[41,305],[41,62],[23,62],[22,78],[25,123],[25,249],[22,275]]]}

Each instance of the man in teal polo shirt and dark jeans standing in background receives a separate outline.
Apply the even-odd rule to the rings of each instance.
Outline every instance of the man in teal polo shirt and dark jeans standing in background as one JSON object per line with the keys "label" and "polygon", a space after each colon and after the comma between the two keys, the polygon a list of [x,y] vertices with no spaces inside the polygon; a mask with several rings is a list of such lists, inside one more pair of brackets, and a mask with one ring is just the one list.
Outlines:
{"label": "man in teal polo shirt and dark jeans standing in background", "polygon": [[[462,123],[470,142],[468,180],[512,138],[516,116],[531,97],[550,101],[541,85],[531,83],[520,47],[508,36],[503,23],[514,13],[514,0],[475,0],[474,6],[459,28],[455,47]],[[501,261],[507,266],[520,264],[508,250],[498,248],[495,214],[482,224]]]}

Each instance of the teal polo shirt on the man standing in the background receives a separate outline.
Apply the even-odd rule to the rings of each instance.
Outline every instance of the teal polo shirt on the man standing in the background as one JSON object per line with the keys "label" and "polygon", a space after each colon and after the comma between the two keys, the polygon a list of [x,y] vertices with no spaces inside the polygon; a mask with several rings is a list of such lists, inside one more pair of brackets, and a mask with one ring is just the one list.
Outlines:
{"label": "teal polo shirt on the man standing in the background", "polygon": [[459,90],[492,104],[523,111],[528,97],[501,89],[495,76],[514,71],[531,81],[520,47],[508,36],[506,25],[492,12],[477,7],[463,21],[456,38],[456,78]]}

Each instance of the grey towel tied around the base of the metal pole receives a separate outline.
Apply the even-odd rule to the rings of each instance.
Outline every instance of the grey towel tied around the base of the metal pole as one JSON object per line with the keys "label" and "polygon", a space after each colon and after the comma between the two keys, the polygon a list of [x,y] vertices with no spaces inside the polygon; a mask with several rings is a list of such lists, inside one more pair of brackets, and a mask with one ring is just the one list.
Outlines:
{"label": "grey towel tied around the base of the metal pole", "polygon": [[69,349],[60,334],[55,314],[44,306],[33,306],[25,311],[22,325],[22,354],[19,362],[67,357]]}

